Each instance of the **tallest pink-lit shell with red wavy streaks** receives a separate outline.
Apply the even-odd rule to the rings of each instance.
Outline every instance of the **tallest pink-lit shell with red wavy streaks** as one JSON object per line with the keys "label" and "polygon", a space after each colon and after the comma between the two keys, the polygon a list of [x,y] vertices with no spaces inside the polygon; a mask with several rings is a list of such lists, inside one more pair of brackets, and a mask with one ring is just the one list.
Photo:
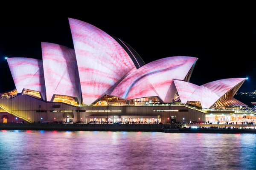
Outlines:
{"label": "tallest pink-lit shell with red wavy streaks", "polygon": [[136,70],[126,51],[104,31],[69,18],[84,104],[110,94],[117,82]]}

